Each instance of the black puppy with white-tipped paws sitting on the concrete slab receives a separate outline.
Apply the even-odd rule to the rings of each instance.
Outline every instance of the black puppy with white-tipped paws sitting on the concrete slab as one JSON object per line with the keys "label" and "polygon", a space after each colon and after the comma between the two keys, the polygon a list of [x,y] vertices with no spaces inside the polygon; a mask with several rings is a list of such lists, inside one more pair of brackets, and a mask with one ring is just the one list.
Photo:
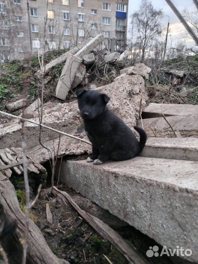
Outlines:
{"label": "black puppy with white-tipped paws sitting on the concrete slab", "polygon": [[140,134],[139,142],[132,130],[106,107],[110,101],[106,94],[80,89],[77,97],[85,130],[92,143],[92,155],[87,162],[99,165],[107,160],[127,160],[142,151],[147,140],[146,133],[134,127]]}

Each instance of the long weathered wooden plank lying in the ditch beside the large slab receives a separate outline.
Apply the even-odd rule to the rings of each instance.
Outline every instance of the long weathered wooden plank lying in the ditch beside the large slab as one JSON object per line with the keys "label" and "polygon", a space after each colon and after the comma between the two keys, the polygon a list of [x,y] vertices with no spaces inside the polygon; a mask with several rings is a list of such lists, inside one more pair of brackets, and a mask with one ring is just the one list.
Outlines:
{"label": "long weathered wooden plank lying in the ditch beside the large slab", "polygon": [[60,191],[55,186],[52,187],[52,193],[58,196],[64,204],[67,201],[74,207],[74,209],[88,222],[90,226],[104,239],[113,244],[129,261],[130,264],[149,264],[149,262],[143,258],[135,248],[132,248],[118,233],[116,233],[109,225],[101,221],[100,219],[91,216],[84,210],[82,210],[75,201],[63,191]]}

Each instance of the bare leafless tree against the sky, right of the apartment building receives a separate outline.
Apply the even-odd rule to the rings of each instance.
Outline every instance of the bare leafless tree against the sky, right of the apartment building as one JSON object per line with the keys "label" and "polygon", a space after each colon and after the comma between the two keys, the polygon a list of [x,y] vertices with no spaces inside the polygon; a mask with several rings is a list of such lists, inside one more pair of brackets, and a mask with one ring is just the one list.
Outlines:
{"label": "bare leafless tree against the sky, right of the apartment building", "polygon": [[139,51],[141,62],[161,35],[162,17],[162,11],[154,9],[150,0],[142,0],[139,10],[132,14],[133,47]]}

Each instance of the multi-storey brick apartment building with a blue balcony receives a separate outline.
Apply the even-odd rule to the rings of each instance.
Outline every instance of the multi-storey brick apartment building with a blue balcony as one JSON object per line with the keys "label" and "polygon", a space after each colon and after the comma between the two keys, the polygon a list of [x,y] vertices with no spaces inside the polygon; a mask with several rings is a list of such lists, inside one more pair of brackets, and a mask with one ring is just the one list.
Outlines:
{"label": "multi-storey brick apartment building with a blue balcony", "polygon": [[0,0],[0,60],[23,59],[44,45],[68,49],[99,33],[121,52],[127,13],[128,0]]}

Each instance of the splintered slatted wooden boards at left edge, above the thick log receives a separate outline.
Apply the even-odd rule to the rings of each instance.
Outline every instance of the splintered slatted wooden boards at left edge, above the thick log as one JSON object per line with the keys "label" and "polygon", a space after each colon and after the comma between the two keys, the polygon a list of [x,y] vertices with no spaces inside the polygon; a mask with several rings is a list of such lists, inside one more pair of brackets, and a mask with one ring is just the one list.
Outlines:
{"label": "splintered slatted wooden boards at left edge, above the thick log", "polygon": [[[21,148],[10,148],[0,150],[0,170],[4,171],[9,178],[12,175],[12,171],[18,175],[23,173],[22,168],[23,153]],[[46,173],[45,168],[27,156],[28,166],[27,171],[35,174]]]}

